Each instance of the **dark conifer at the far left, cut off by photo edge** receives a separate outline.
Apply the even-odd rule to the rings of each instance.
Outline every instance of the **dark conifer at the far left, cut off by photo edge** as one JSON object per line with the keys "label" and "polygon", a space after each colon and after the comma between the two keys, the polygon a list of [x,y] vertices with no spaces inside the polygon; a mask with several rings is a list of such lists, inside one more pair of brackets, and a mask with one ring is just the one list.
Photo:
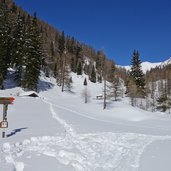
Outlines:
{"label": "dark conifer at the far left, cut off by photo edge", "polygon": [[10,62],[10,37],[9,9],[5,1],[0,2],[0,89],[7,74]]}

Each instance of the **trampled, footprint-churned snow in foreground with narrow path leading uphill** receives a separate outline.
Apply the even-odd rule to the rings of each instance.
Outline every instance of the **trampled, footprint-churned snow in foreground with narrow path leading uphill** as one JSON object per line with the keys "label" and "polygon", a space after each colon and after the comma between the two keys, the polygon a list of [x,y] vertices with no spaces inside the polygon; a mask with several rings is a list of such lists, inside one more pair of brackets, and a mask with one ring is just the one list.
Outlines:
{"label": "trampled, footprint-churned snow in foreground with narrow path leading uphill", "polygon": [[[53,106],[74,112],[45,101],[52,117],[65,131],[61,136],[31,137],[11,145],[4,143],[2,152],[7,163],[15,171],[24,171],[24,163],[18,158],[27,152],[53,157],[76,171],[137,171],[144,149],[153,141],[171,140],[170,136],[151,136],[135,133],[77,134],[71,125],[61,119]],[[95,119],[95,118],[93,118]]]}

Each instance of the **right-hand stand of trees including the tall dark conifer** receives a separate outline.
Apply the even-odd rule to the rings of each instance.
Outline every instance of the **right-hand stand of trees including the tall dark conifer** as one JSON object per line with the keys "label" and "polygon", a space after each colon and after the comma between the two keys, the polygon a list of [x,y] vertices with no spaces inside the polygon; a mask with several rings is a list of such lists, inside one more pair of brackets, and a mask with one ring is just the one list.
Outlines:
{"label": "right-hand stand of trees including the tall dark conifer", "polygon": [[130,98],[132,106],[171,112],[171,64],[161,65],[143,73],[140,54],[135,50],[131,69],[122,75],[122,78],[126,86],[125,94]]}

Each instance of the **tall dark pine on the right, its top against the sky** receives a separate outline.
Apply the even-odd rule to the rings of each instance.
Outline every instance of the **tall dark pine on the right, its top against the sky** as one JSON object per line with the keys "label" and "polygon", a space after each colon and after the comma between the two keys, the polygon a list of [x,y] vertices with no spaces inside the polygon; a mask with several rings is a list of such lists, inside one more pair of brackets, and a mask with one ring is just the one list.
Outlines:
{"label": "tall dark pine on the right, its top against the sky", "polygon": [[140,97],[145,96],[145,79],[144,79],[144,74],[141,69],[141,60],[139,58],[139,52],[134,50],[133,56],[132,56],[132,64],[131,64],[131,71],[130,71],[130,76],[134,80],[137,90],[138,90],[138,95]]}

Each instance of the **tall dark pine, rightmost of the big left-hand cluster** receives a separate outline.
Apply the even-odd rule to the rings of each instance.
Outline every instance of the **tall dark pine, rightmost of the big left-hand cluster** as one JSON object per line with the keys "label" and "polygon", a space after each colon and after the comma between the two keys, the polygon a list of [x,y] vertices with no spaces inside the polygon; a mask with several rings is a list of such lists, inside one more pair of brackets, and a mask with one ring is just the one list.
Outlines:
{"label": "tall dark pine, rightmost of the big left-hand cluster", "polygon": [[37,91],[37,83],[41,69],[42,47],[36,14],[34,14],[32,20],[28,17],[27,24],[28,29],[25,40],[25,72],[22,86],[26,90]]}

